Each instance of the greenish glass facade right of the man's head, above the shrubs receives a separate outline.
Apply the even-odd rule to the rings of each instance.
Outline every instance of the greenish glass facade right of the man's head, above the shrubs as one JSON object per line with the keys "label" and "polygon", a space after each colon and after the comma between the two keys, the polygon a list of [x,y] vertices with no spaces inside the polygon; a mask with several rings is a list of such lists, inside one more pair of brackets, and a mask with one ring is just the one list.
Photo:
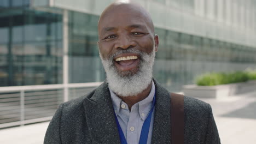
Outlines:
{"label": "greenish glass facade right of the man's head, above the shrubs", "polygon": [[170,91],[181,91],[203,73],[255,68],[255,47],[160,28],[155,33],[160,44],[154,77]]}

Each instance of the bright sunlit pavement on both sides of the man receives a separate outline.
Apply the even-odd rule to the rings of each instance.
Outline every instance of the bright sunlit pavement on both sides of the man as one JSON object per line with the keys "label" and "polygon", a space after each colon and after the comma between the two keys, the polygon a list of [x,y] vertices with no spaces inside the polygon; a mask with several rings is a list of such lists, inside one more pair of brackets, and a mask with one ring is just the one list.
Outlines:
{"label": "bright sunlit pavement on both sides of the man", "polygon": [[[212,105],[213,114],[224,144],[256,142],[256,92],[225,99],[202,99]],[[0,130],[1,144],[43,143],[49,122]]]}

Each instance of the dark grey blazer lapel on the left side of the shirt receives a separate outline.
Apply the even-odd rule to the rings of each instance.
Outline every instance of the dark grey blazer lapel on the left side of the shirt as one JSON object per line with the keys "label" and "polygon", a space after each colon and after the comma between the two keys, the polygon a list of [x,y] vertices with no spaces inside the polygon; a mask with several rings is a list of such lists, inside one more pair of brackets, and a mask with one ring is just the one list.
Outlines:
{"label": "dark grey blazer lapel on the left side of the shirt", "polygon": [[120,143],[112,100],[106,82],[95,90],[91,98],[84,101],[84,107],[88,129],[94,139],[92,143]]}

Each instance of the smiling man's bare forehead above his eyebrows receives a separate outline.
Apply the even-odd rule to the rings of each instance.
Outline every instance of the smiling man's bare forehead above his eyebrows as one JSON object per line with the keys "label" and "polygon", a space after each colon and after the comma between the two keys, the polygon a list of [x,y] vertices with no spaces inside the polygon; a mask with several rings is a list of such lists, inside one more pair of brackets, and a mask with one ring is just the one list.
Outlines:
{"label": "smiling man's bare forehead above his eyebrows", "polygon": [[107,10],[101,15],[98,22],[98,32],[101,33],[108,27],[121,28],[132,25],[140,25],[150,28],[150,18],[146,11],[141,8],[131,7],[114,7]]}

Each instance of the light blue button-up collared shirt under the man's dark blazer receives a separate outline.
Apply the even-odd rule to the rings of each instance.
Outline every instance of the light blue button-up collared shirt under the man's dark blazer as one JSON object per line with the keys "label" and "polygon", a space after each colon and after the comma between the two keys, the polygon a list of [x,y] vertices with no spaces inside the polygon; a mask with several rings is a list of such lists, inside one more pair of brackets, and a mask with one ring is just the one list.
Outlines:
{"label": "light blue button-up collared shirt under the man's dark blazer", "polygon": [[[141,129],[144,121],[146,120],[149,111],[153,106],[153,98],[155,94],[155,84],[152,81],[151,91],[147,98],[139,101],[131,107],[129,111],[128,105],[122,101],[111,89],[109,89],[115,115],[117,115],[118,122],[125,135],[127,144],[139,143],[139,137],[141,136]],[[154,113],[152,113],[151,123],[148,133],[147,143],[151,143],[154,123]]]}

